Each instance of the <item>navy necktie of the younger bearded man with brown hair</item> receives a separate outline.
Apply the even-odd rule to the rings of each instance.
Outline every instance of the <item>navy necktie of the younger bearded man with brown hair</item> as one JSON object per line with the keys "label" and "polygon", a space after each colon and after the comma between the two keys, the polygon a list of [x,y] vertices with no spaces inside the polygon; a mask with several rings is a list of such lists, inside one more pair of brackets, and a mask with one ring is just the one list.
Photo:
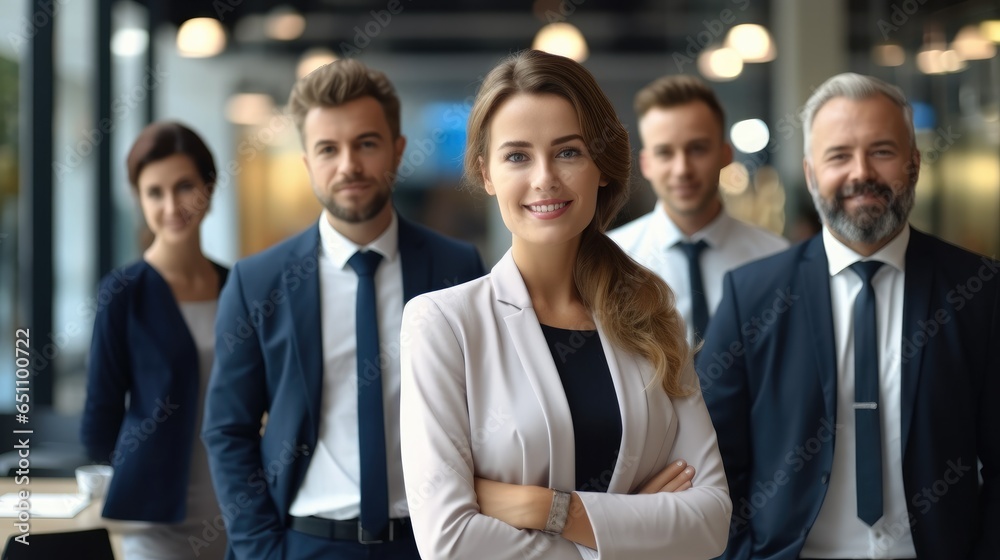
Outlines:
{"label": "navy necktie of the younger bearded man with brown hair", "polygon": [[375,269],[382,255],[358,251],[347,261],[358,273],[358,444],[361,450],[361,528],[376,539],[389,524],[389,488],[379,365]]}

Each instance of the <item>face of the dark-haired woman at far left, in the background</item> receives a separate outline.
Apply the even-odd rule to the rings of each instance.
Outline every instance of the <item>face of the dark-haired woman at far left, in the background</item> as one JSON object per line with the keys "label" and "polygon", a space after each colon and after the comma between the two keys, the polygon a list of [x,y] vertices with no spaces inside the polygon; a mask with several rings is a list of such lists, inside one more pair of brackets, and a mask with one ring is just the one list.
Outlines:
{"label": "face of the dark-haired woman at far left, in the background", "polygon": [[197,238],[211,193],[189,156],[174,154],[146,164],[136,186],[142,215],[158,240]]}

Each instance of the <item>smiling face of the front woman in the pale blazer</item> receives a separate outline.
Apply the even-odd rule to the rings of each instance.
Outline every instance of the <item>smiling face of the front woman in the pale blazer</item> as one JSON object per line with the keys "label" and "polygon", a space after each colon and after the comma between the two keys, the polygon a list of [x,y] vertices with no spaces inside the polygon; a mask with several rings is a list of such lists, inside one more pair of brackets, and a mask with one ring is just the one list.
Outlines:
{"label": "smiling face of the front woman in the pale blazer", "polygon": [[500,105],[482,170],[515,248],[579,244],[594,219],[598,188],[607,184],[576,110],[552,94],[516,94]]}

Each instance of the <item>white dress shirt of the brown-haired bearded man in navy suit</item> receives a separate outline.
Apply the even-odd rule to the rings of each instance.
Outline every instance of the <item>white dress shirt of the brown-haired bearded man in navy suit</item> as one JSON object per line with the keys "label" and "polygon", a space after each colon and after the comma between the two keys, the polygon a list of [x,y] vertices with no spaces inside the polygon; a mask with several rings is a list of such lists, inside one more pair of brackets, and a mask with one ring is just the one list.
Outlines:
{"label": "white dress shirt of the brown-haired bearded man in navy suit", "polygon": [[358,443],[358,371],[355,301],[358,275],[347,261],[359,249],[381,253],[375,272],[378,334],[385,406],[389,516],[407,517],[399,451],[399,329],[403,318],[403,268],[396,214],[388,229],[359,247],[319,220],[319,286],[322,313],[323,395],[316,451],[289,513],[353,519],[361,513],[361,455]]}

